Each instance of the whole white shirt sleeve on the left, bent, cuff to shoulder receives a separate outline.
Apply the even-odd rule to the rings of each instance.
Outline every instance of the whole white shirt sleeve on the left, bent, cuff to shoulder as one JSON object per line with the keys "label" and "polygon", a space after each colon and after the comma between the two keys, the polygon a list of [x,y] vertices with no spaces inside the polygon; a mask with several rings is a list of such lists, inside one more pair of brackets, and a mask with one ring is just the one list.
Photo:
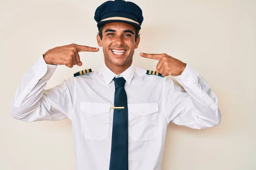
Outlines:
{"label": "whole white shirt sleeve on the left, bent, cuff to shoulder", "polygon": [[70,119],[73,111],[74,82],[64,80],[60,85],[45,90],[57,65],[49,65],[40,57],[27,71],[11,103],[11,114],[25,122]]}

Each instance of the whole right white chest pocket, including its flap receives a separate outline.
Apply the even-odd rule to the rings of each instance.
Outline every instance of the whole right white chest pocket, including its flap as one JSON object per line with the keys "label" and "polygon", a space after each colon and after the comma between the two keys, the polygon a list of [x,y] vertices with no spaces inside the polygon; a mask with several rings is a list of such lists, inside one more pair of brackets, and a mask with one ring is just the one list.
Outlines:
{"label": "whole right white chest pocket, including its flap", "polygon": [[129,136],[134,141],[151,140],[157,134],[157,103],[128,104]]}

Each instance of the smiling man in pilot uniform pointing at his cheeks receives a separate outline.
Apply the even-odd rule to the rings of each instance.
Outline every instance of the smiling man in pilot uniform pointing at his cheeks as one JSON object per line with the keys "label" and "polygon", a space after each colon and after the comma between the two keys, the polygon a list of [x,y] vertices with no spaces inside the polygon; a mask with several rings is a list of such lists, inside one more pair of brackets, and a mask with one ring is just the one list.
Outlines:
{"label": "smiling man in pilot uniform pointing at his cheeks", "polygon": [[79,52],[99,51],[76,44],[50,49],[24,75],[12,116],[26,122],[70,119],[78,170],[160,170],[169,122],[195,129],[218,125],[217,97],[196,71],[167,54],[140,54],[159,61],[156,71],[133,64],[143,22],[136,4],[107,1],[94,18],[105,65],[44,90],[57,65],[81,66]]}

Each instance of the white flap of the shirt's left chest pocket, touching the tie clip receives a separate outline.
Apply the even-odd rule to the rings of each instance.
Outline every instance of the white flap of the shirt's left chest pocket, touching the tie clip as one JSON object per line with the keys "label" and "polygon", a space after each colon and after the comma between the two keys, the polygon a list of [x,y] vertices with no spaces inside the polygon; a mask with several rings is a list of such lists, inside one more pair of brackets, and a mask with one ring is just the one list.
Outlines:
{"label": "white flap of the shirt's left chest pocket, touching the tie clip", "polygon": [[80,109],[88,114],[102,114],[110,112],[110,103],[80,102]]}

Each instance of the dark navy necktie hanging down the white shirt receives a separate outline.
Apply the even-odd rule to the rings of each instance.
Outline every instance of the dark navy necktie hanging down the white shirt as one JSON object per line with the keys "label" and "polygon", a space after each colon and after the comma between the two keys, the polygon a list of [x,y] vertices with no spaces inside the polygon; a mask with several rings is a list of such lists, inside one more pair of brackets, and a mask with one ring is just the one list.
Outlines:
{"label": "dark navy necktie hanging down the white shirt", "polygon": [[125,79],[114,78],[115,98],[109,170],[128,170],[128,108]]}

